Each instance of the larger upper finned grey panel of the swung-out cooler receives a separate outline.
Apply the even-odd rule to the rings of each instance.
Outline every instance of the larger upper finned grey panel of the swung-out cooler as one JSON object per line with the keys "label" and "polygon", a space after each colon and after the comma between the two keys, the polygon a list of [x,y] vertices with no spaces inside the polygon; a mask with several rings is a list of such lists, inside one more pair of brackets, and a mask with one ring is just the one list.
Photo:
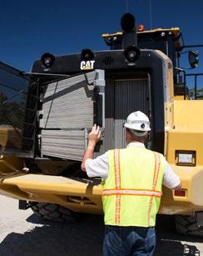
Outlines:
{"label": "larger upper finned grey panel of the swung-out cooler", "polygon": [[[95,72],[87,73],[92,83]],[[84,75],[67,78],[47,86],[43,97],[42,128],[85,128],[93,123],[93,86]]]}

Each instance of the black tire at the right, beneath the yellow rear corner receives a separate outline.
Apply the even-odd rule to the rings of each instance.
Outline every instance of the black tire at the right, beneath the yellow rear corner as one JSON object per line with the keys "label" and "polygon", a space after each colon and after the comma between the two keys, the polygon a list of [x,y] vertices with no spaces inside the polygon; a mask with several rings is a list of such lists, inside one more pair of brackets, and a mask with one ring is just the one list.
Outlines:
{"label": "black tire at the right, beneath the yellow rear corner", "polygon": [[176,232],[203,237],[203,229],[199,228],[195,216],[176,215]]}

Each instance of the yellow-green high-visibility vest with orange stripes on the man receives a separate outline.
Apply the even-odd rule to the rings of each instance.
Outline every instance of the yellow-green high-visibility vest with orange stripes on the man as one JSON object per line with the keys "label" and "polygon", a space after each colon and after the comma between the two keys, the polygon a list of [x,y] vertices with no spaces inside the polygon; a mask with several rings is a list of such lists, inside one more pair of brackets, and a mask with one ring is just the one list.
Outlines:
{"label": "yellow-green high-visibility vest with orange stripes on the man", "polygon": [[103,181],[106,225],[154,227],[165,168],[161,153],[128,147],[108,151],[109,174]]}

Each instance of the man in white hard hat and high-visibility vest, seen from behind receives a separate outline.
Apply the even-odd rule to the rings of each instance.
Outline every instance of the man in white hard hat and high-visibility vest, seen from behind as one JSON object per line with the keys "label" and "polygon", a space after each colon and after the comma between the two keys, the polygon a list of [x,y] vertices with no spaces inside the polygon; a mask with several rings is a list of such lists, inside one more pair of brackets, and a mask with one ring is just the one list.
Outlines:
{"label": "man in white hard hat and high-visibility vest, seen from behind", "polygon": [[124,124],[126,148],[113,149],[93,159],[101,130],[89,133],[82,170],[102,177],[102,203],[106,225],[104,255],[152,255],[156,244],[156,213],[162,184],[179,189],[181,182],[166,158],[145,148],[151,130],[146,114],[131,113]]}

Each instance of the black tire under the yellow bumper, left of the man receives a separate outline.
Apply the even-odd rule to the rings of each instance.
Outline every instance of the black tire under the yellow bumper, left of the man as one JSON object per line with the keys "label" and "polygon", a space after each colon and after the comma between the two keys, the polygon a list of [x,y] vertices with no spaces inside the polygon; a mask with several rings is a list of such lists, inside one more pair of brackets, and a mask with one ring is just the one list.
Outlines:
{"label": "black tire under the yellow bumper, left of the man", "polygon": [[75,213],[58,204],[31,203],[33,213],[45,220],[60,222],[77,222],[82,220],[81,213]]}

